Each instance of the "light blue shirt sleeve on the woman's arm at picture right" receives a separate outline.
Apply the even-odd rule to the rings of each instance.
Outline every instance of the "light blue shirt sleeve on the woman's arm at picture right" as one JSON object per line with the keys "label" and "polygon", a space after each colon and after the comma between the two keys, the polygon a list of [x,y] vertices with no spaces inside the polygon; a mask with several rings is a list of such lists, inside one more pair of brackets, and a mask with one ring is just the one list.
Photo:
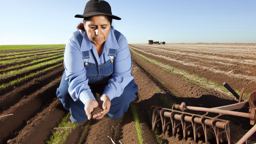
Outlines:
{"label": "light blue shirt sleeve on the woman's arm at picture right", "polygon": [[114,58],[112,78],[108,80],[103,92],[110,100],[120,96],[124,87],[133,79],[133,75],[130,73],[132,66],[130,50],[124,35],[120,35],[117,43],[120,48]]}

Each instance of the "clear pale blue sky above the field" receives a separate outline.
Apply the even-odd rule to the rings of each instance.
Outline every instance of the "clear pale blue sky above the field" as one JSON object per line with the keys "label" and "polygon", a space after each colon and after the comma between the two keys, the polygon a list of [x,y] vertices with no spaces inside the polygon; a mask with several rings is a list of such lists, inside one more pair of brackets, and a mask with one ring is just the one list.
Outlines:
{"label": "clear pale blue sky above the field", "polygon": [[[256,0],[106,0],[128,43],[256,43]],[[0,0],[0,45],[61,44],[87,0]]]}

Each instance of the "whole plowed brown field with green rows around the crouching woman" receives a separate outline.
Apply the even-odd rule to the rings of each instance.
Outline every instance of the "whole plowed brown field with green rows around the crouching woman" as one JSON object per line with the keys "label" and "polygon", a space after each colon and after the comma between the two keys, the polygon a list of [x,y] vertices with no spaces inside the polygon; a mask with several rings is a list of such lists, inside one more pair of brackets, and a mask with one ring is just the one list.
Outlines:
{"label": "whole plowed brown field with green rows around the crouching woman", "polygon": [[[221,87],[245,87],[243,98],[256,90],[255,45],[129,44],[131,73],[139,90],[131,105],[138,107],[141,135],[134,111],[124,113],[121,123],[104,116],[80,127],[58,127],[68,114],[56,98],[63,68],[64,47],[0,51],[0,143],[45,143],[53,132],[67,132],[54,143],[216,143],[213,133],[205,142],[203,132],[196,141],[190,132],[183,138],[161,128],[152,131],[151,106],[186,102],[189,106],[216,107],[237,99]],[[10,62],[11,61],[11,62]],[[248,112],[248,108],[239,111]],[[11,114],[11,115],[8,115]],[[198,112],[197,114],[202,114]],[[204,113],[203,113],[204,114]],[[252,125],[248,118],[225,115],[230,121],[230,140],[236,143]],[[67,118],[67,121],[70,121]],[[56,129],[63,130],[57,131]],[[220,129],[220,143],[227,143]],[[249,137],[256,141],[256,135]]]}

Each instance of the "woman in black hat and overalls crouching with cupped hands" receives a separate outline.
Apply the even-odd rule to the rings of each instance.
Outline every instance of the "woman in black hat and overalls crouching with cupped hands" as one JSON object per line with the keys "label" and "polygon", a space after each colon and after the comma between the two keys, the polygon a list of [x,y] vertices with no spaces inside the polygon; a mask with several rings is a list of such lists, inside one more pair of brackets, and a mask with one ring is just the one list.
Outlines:
{"label": "woman in black hat and overalls crouching with cupped hands", "polygon": [[[56,95],[71,113],[70,119],[83,125],[87,119],[100,119],[105,114],[121,122],[129,103],[138,90],[130,73],[132,60],[126,38],[111,26],[111,13],[106,1],[86,3],[77,31],[66,42],[64,68]],[[100,97],[96,101],[96,94]],[[91,115],[94,107],[104,110]]]}

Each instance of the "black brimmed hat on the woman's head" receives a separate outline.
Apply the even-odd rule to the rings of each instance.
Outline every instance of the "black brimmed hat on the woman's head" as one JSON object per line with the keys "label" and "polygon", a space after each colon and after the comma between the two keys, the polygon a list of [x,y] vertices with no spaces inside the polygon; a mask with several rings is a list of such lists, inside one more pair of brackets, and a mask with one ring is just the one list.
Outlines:
{"label": "black brimmed hat on the woman's head", "polygon": [[76,14],[74,17],[84,18],[93,15],[109,15],[113,19],[121,19],[118,16],[112,15],[110,5],[104,0],[89,0],[84,7],[83,14]]}

